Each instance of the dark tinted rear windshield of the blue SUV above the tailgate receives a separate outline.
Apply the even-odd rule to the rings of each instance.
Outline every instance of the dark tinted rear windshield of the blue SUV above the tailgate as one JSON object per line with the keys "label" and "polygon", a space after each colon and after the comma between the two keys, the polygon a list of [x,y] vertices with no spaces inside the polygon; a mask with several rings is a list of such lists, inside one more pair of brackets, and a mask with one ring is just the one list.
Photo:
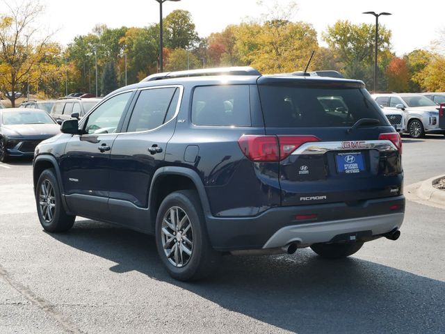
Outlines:
{"label": "dark tinted rear windshield of the blue SUV above the tailgate", "polygon": [[388,125],[362,88],[259,86],[259,92],[266,127],[350,127],[361,118]]}

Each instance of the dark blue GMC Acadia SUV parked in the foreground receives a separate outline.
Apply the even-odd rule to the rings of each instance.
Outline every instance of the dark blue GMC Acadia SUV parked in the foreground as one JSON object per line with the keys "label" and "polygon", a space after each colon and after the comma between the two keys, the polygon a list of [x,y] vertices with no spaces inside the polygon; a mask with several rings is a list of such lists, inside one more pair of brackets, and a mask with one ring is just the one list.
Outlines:
{"label": "dark blue GMC Acadia SUV parked in the foreground", "polygon": [[401,138],[362,81],[250,67],[155,74],[62,132],[35,150],[44,230],[83,216],[154,234],[179,280],[224,253],[309,246],[338,258],[400,235]]}

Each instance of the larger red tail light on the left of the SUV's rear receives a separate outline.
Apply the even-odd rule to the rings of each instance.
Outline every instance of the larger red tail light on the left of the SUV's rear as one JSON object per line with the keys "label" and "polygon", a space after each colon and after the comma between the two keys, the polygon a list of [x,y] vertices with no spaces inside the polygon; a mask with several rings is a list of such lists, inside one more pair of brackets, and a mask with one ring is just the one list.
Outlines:
{"label": "larger red tail light on the left of the SUV's rear", "polygon": [[248,159],[257,162],[280,161],[304,143],[320,141],[316,136],[259,136],[243,134],[238,145]]}

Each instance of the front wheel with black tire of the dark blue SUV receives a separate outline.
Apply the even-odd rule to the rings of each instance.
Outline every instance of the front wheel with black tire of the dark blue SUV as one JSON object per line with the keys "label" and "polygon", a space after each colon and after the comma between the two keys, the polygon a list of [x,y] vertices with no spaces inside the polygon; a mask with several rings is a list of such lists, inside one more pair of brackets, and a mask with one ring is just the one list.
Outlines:
{"label": "front wheel with black tire of the dark blue SUV", "polygon": [[[46,195],[44,189],[47,189]],[[53,168],[46,169],[40,174],[35,187],[35,205],[37,205],[40,224],[45,231],[65,232],[72,228],[76,216],[70,216],[65,212]]]}

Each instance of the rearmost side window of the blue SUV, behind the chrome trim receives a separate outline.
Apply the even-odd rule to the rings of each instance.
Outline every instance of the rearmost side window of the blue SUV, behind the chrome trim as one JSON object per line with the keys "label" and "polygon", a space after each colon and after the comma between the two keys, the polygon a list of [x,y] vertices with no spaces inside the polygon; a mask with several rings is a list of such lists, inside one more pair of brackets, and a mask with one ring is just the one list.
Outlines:
{"label": "rearmost side window of the blue SUV, behind the chrome trim", "polygon": [[249,86],[203,86],[195,88],[192,104],[195,125],[250,127]]}

